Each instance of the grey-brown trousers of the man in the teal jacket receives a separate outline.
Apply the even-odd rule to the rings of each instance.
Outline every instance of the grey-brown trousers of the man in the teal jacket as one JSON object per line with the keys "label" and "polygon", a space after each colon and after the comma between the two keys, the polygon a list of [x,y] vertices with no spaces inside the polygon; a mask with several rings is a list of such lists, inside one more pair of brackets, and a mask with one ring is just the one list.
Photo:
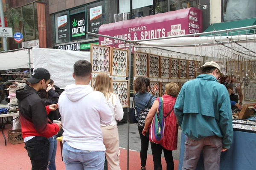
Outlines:
{"label": "grey-brown trousers of the man in the teal jacket", "polygon": [[196,141],[187,137],[182,170],[196,170],[202,150],[204,169],[219,170],[222,146],[222,140],[218,136],[209,136]]}

